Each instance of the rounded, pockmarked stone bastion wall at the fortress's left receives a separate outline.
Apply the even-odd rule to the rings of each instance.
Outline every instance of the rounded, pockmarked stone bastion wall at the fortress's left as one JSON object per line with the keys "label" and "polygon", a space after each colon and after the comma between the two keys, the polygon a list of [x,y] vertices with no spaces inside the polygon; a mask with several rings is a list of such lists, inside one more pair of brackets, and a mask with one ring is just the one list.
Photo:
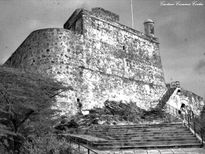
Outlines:
{"label": "rounded, pockmarked stone bastion wall at the fortress's left", "polygon": [[6,65],[32,69],[43,75],[62,81],[66,86],[72,86],[74,91],[63,93],[58,97],[57,108],[62,113],[77,112],[76,99],[82,83],[81,68],[83,65],[82,36],[72,31],[54,28],[32,32]]}

